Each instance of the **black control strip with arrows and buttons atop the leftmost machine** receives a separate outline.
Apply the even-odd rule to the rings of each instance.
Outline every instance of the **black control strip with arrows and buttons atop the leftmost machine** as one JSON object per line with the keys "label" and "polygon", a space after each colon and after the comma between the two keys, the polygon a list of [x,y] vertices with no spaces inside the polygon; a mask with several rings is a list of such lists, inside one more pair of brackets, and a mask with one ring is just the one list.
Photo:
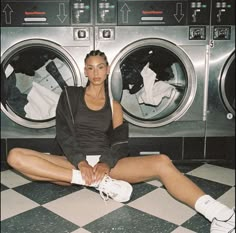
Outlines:
{"label": "black control strip with arrows and buttons atop the leftmost machine", "polygon": [[90,25],[93,0],[3,0],[1,26]]}

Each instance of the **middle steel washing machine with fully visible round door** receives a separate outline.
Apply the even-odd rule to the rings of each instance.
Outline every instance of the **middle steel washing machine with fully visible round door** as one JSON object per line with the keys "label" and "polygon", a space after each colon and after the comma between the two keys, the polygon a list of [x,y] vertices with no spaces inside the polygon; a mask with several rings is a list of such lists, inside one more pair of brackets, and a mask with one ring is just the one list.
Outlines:
{"label": "middle steel washing machine with fully visible round door", "polygon": [[210,1],[97,0],[95,13],[130,138],[203,139]]}

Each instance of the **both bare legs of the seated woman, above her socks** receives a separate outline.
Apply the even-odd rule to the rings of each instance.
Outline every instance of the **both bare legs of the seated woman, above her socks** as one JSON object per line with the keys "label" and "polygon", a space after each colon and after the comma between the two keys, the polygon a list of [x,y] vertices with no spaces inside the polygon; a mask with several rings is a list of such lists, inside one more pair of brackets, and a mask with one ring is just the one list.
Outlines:
{"label": "both bare legs of the seated woman, above her socks", "polygon": [[[12,149],[7,161],[10,166],[33,180],[58,184],[70,184],[72,169],[75,169],[65,157],[21,148]],[[204,195],[165,155],[121,159],[111,170],[110,176],[130,183],[159,179],[173,197],[191,207]]]}

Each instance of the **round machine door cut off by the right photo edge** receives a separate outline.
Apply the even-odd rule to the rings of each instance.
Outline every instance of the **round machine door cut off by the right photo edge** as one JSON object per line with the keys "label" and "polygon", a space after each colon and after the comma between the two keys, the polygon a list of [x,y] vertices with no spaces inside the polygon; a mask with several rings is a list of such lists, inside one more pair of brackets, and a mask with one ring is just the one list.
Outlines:
{"label": "round machine door cut off by the right photo edge", "polygon": [[235,116],[235,53],[231,55],[224,67],[220,90],[224,106],[229,111],[227,117],[231,119]]}

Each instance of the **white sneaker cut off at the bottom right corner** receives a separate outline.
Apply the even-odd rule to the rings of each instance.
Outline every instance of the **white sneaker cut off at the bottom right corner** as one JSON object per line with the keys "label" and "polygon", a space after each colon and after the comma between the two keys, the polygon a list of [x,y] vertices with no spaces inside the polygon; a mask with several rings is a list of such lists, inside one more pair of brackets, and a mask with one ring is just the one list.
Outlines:
{"label": "white sneaker cut off at the bottom right corner", "polygon": [[214,219],[211,224],[211,233],[235,233],[235,212],[226,221]]}

